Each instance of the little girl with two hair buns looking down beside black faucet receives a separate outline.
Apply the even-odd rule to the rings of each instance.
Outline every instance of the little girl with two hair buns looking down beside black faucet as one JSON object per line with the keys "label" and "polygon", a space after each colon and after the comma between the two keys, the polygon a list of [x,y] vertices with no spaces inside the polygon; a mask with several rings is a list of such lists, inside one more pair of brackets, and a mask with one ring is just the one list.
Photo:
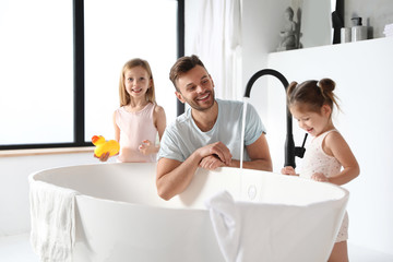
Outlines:
{"label": "little girl with two hair buns looking down beside black faucet", "polygon": [[[338,108],[334,88],[335,83],[330,79],[289,84],[288,108],[299,127],[314,138],[307,146],[301,172],[296,174],[289,166],[284,167],[282,174],[338,186],[359,175],[359,165],[353,152],[332,121],[333,106]],[[348,261],[347,239],[348,215],[345,214],[329,262]]]}

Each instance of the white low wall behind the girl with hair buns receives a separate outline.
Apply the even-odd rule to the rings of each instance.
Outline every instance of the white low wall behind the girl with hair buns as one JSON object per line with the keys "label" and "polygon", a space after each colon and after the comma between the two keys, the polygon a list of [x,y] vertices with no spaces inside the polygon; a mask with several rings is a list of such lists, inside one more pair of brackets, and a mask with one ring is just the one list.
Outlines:
{"label": "white low wall behind the girl with hair buns", "polygon": [[[269,67],[288,81],[331,78],[343,112],[336,128],[343,133],[360,165],[360,176],[345,186],[348,204],[349,241],[393,254],[393,37],[323,46],[269,56]],[[269,87],[269,127],[277,129],[285,100]],[[294,130],[299,128],[294,122]],[[301,136],[300,135],[300,136]],[[301,136],[302,138],[302,136]],[[278,147],[282,141],[270,145]],[[297,144],[300,139],[296,141]],[[273,156],[278,159],[278,155]],[[281,164],[281,160],[276,164]],[[277,170],[279,166],[275,165]]]}

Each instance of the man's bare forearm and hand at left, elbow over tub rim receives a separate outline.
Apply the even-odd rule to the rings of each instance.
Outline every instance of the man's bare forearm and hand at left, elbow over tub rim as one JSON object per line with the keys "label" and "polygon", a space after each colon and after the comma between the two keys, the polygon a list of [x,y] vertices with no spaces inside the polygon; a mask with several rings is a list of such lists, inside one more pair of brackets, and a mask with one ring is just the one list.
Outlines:
{"label": "man's bare forearm and hand at left, elbow over tub rim", "polygon": [[184,191],[190,184],[201,159],[213,154],[226,165],[231,164],[231,154],[222,142],[198,148],[183,163],[160,158],[157,164],[156,177],[158,195],[164,200],[170,200],[176,194]]}

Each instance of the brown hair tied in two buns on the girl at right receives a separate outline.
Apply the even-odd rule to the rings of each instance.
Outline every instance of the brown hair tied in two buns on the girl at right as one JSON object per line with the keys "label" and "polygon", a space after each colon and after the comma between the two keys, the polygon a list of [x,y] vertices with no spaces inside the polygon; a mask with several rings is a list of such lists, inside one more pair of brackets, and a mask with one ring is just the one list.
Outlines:
{"label": "brown hair tied in two buns on the girl at right", "polygon": [[335,82],[331,79],[322,79],[320,81],[309,80],[298,84],[291,82],[287,88],[288,108],[299,106],[307,107],[307,110],[320,112],[323,105],[329,105],[332,108],[335,105],[340,110],[337,97],[333,91]]}

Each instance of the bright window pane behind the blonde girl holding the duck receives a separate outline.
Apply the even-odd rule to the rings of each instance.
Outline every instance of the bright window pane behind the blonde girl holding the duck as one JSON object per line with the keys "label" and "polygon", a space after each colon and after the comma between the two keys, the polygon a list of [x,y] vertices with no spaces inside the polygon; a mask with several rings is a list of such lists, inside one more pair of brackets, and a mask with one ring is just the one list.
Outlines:
{"label": "bright window pane behind the blonde girl holding the duck", "polygon": [[177,1],[85,0],[85,140],[114,138],[119,76],[132,58],[148,61],[157,104],[176,117],[169,70],[177,59]]}

